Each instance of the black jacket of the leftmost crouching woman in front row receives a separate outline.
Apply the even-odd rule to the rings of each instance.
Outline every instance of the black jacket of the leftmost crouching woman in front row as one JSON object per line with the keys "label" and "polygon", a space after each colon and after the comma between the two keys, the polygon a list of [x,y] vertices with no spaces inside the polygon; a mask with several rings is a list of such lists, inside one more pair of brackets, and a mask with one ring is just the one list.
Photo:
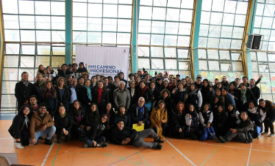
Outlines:
{"label": "black jacket of the leftmost crouching woman in front row", "polygon": [[[23,108],[25,106],[29,107],[28,105],[24,105],[24,107],[21,107],[21,109],[18,111],[18,114],[14,117],[12,120],[12,126],[10,126],[10,129],[8,132],[10,132],[10,135],[14,137],[14,139],[21,139],[21,131],[29,132],[28,127],[30,128],[30,119],[28,121],[28,124],[25,123],[25,118],[28,117],[23,114]],[[29,132],[30,133],[30,132]]]}

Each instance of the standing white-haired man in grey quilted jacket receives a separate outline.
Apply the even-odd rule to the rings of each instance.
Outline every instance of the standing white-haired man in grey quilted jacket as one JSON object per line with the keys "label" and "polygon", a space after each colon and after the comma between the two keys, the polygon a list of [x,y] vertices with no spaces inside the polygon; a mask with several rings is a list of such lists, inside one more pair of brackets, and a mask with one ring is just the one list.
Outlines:
{"label": "standing white-haired man in grey quilted jacket", "polygon": [[129,110],[130,107],[130,92],[125,88],[125,82],[120,81],[119,87],[113,91],[113,105],[118,110],[120,105],[125,106],[125,110]]}

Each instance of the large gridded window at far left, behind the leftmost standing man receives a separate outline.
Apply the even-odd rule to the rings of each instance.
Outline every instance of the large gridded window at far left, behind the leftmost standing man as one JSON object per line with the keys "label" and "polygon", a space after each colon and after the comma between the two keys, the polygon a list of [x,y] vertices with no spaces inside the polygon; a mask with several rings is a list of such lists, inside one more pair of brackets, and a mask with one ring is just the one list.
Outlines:
{"label": "large gridded window at far left, behind the leftmost standing man", "polygon": [[15,110],[15,84],[39,64],[55,70],[65,62],[65,1],[2,0],[5,52],[1,111]]}

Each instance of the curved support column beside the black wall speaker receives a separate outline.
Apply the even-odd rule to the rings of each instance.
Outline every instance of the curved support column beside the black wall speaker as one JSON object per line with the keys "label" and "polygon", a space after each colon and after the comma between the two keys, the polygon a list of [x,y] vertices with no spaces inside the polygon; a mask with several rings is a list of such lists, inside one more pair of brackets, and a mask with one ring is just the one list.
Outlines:
{"label": "curved support column beside the black wall speaker", "polygon": [[248,41],[248,34],[253,34],[254,29],[254,20],[256,15],[256,5],[257,0],[249,1],[248,3],[248,14],[246,16],[246,23],[245,23],[245,32],[243,35],[243,45],[242,45],[242,58],[243,58],[243,73],[245,76],[248,77],[248,80],[253,78],[252,75],[252,63],[251,63],[251,56],[250,56],[250,49],[246,48],[246,44]]}

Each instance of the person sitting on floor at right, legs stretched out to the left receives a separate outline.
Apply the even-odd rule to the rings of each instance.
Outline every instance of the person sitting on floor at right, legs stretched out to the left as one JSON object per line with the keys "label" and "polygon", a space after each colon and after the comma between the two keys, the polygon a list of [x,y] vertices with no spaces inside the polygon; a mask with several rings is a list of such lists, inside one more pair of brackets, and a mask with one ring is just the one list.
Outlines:
{"label": "person sitting on floor at right, legs stretched out to the left", "polygon": [[234,137],[237,137],[243,143],[252,143],[252,133],[254,130],[254,125],[252,121],[248,119],[248,112],[242,111],[241,112],[241,123],[236,129],[231,128],[224,137],[217,137],[213,136],[214,141],[218,143],[226,143],[226,141],[232,140]]}

